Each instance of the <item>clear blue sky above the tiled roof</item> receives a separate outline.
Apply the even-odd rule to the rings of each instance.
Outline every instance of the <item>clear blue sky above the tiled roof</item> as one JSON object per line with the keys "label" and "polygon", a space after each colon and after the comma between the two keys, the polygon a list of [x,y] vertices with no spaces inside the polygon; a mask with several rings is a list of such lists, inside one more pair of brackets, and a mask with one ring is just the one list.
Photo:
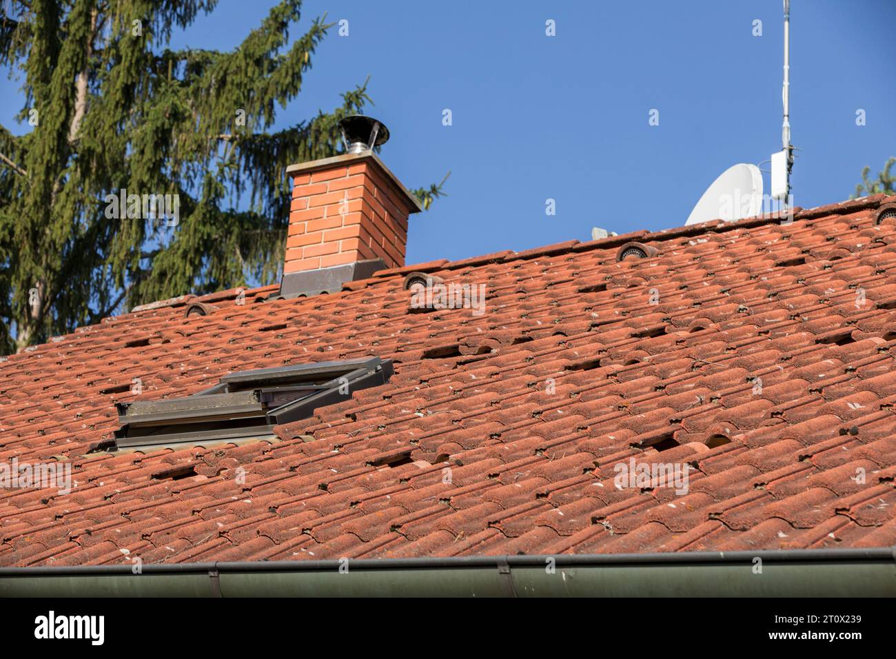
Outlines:
{"label": "clear blue sky above the tiled roof", "polygon": [[[221,0],[174,45],[232,48],[272,4]],[[324,12],[349,36],[323,41],[279,126],[371,75],[386,164],[409,187],[452,171],[450,196],[411,219],[408,263],[680,226],[722,170],[780,149],[781,0],[308,0],[292,35]],[[792,0],[791,19],[792,183],[810,207],[896,155],[896,2]],[[22,133],[18,86],[0,81],[0,122]]]}

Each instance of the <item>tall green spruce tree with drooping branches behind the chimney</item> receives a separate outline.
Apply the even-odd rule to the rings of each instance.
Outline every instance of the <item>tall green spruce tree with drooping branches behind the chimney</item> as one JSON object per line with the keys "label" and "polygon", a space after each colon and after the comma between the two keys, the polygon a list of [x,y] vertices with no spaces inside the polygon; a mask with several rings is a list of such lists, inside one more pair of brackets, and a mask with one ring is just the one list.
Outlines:
{"label": "tall green spruce tree with drooping branches behind the chimney", "polygon": [[[340,152],[329,112],[270,132],[331,26],[289,29],[283,0],[229,52],[168,48],[217,0],[2,0],[0,66],[32,127],[0,126],[0,351],[156,299],[271,282],[289,218],[287,165]],[[177,223],[108,217],[108,195],[177,195]],[[428,207],[441,184],[415,191]]]}

